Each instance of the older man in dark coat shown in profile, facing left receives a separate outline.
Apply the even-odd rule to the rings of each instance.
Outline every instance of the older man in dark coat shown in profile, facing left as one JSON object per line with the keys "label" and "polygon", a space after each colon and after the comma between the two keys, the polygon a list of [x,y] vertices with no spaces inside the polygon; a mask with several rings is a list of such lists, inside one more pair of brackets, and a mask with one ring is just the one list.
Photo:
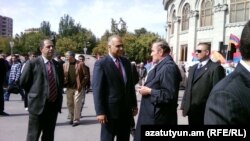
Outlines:
{"label": "older man in dark coat shown in profile, facing left", "polygon": [[169,55],[170,48],[165,41],[156,41],[151,48],[154,68],[146,76],[141,107],[136,126],[135,141],[141,140],[141,125],[177,125],[177,100],[181,74]]}

